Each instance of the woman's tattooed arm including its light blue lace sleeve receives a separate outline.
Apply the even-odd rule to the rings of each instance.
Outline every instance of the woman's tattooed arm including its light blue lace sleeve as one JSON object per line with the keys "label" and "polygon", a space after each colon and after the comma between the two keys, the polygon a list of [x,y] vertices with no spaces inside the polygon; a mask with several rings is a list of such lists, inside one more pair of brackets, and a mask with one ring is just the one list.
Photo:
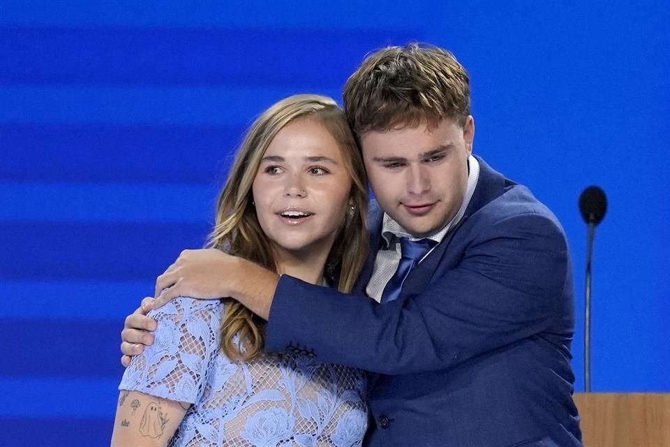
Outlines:
{"label": "woman's tattooed arm including its light blue lace sleeve", "polygon": [[151,314],[156,344],[124,372],[112,446],[168,444],[209,381],[222,310],[219,301],[177,298]]}

